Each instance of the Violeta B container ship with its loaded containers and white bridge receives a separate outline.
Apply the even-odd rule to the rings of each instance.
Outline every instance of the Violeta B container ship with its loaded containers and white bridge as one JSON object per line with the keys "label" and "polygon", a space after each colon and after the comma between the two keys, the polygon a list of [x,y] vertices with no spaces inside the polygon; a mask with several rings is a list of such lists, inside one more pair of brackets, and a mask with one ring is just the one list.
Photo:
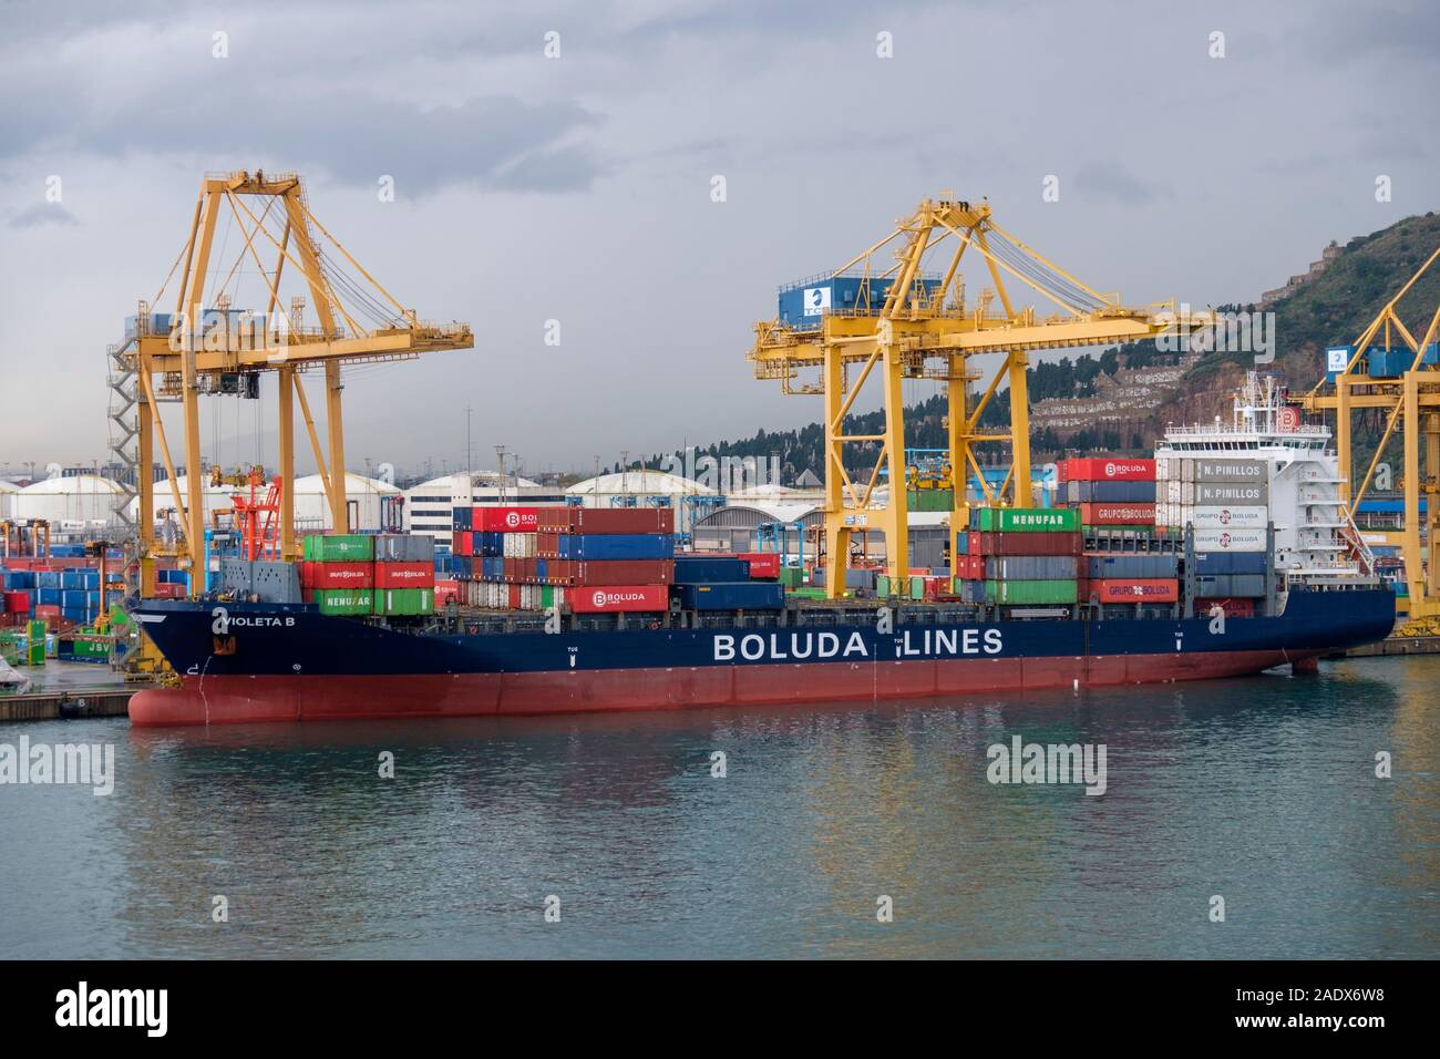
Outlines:
{"label": "Violeta B container ship with its loaded containers and white bridge", "polygon": [[[456,507],[432,539],[305,537],[134,617],[177,674],[138,726],[648,710],[1164,683],[1303,669],[1395,599],[1323,426],[1251,376],[1230,424],[1058,465],[1054,504],[965,509],[949,565],[814,598],[780,553],[675,550],[667,509]],[[959,519],[960,514],[956,514]],[[822,573],[814,569],[811,578]]]}

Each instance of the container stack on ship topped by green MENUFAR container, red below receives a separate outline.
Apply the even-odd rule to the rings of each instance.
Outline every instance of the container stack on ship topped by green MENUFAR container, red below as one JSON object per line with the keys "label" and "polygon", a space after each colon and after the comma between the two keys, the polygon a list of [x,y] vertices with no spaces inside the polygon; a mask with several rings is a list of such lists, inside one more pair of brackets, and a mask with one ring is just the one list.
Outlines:
{"label": "container stack on ship topped by green MENUFAR container, red below", "polygon": [[1070,605],[1079,598],[1076,509],[976,507],[963,543],[966,553],[955,558],[955,588],[968,604]]}

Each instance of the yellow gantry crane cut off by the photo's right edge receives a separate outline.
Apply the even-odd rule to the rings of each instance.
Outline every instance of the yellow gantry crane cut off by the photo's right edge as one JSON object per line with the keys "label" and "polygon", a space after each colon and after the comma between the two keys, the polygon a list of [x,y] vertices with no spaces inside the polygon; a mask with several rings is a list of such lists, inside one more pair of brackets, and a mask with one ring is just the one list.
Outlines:
{"label": "yellow gantry crane cut off by the photo's right edge", "polygon": [[[1365,499],[1365,490],[1380,467],[1385,445],[1398,428],[1404,445],[1405,526],[1401,555],[1405,560],[1408,596],[1398,596],[1395,607],[1410,615],[1414,631],[1436,631],[1440,625],[1440,305],[1430,326],[1417,340],[1400,318],[1397,305],[1440,259],[1440,248],[1426,259],[1404,287],[1385,303],[1380,314],[1355,339],[1354,346],[1326,350],[1331,370],[1305,396],[1309,411],[1335,412],[1335,451],[1341,465],[1341,500],[1351,517]],[[1367,409],[1388,409],[1385,429],[1375,454],[1351,491],[1354,473],[1354,418]],[[1424,467],[1421,470],[1421,445]],[[1426,513],[1420,513],[1426,497]],[[1423,535],[1421,535],[1423,530]]]}

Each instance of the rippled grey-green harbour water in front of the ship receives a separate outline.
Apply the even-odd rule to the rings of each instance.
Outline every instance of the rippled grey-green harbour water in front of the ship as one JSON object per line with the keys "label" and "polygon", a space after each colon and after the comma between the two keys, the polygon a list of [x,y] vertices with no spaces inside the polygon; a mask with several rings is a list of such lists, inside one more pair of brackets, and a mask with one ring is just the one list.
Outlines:
{"label": "rippled grey-green harbour water in front of the ship", "polygon": [[[4,725],[114,745],[115,788],[0,785],[0,954],[1433,958],[1436,687],[1413,657],[819,709]],[[1104,794],[989,782],[1015,736],[1103,745]]]}

